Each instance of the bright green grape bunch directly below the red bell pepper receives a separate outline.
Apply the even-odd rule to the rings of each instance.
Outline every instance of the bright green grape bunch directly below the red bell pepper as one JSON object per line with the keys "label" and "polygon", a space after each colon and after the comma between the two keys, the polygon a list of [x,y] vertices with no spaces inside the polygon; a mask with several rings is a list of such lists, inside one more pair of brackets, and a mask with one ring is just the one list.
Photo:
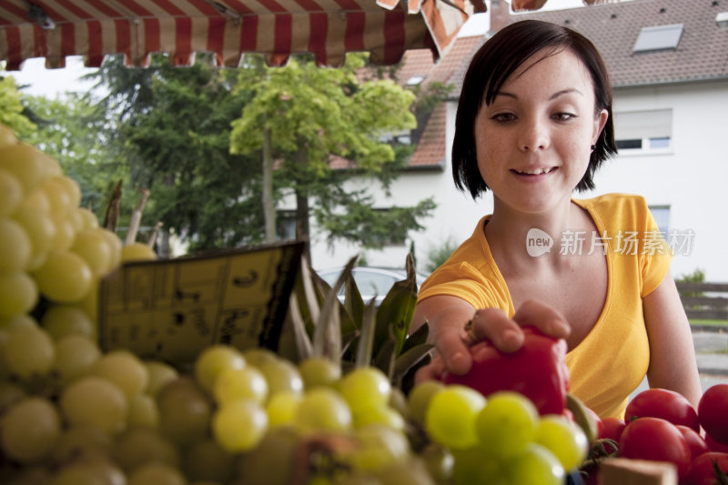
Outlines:
{"label": "bright green grape bunch directly below the red bell pepper", "polygon": [[540,416],[512,391],[491,394],[460,385],[423,382],[410,392],[410,417],[432,441],[429,453],[450,455],[448,468],[430,468],[455,484],[564,483],[586,458],[581,427],[561,415]]}

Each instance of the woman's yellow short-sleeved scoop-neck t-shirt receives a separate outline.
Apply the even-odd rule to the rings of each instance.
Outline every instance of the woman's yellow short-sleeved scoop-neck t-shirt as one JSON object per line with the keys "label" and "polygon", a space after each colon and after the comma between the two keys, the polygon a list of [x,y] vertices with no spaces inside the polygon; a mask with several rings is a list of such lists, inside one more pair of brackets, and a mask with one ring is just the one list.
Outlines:
{"label": "woman's yellow short-sleeved scoop-neck t-shirt", "polygon": [[[570,391],[602,418],[622,416],[650,364],[642,298],[662,283],[672,255],[643,197],[609,194],[573,202],[591,215],[599,231],[597,246],[580,249],[562,242],[551,251],[605,251],[609,281],[594,328],[566,356]],[[475,308],[501,308],[513,317],[511,294],[483,233],[489,217],[480,219],[473,235],[427,278],[418,300],[450,295]],[[526,241],[523,245],[525,250]]]}

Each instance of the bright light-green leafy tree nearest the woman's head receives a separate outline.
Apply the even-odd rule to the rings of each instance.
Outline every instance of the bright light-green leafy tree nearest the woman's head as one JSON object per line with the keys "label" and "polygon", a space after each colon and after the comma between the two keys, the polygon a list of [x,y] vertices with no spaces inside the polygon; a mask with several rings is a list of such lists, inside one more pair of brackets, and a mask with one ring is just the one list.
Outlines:
{"label": "bright light-green leafy tree nearest the woman's head", "polygon": [[[372,207],[366,189],[344,187],[350,177],[378,177],[389,187],[402,159],[386,137],[416,125],[415,96],[391,80],[360,82],[357,69],[365,62],[366,56],[349,55],[346,66],[326,69],[305,58],[291,58],[285,67],[258,61],[238,75],[238,93],[248,102],[233,122],[230,149],[261,155],[267,191],[278,197],[284,187],[293,191],[303,240],[308,241],[313,215],[329,242],[344,238],[377,248],[382,235],[420,228],[417,219],[434,207],[428,199],[394,207],[386,217]],[[346,168],[333,168],[334,161]],[[271,207],[266,218],[268,228],[275,227]]]}

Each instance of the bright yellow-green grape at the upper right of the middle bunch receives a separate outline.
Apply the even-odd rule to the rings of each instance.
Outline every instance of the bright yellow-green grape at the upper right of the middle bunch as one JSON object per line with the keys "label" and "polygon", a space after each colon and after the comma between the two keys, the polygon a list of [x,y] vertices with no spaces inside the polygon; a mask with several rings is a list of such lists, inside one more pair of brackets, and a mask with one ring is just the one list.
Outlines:
{"label": "bright yellow-green grape at the upper right of the middle bunch", "polygon": [[347,399],[349,408],[380,408],[387,404],[391,394],[389,379],[374,367],[354,369],[341,378],[339,392]]}

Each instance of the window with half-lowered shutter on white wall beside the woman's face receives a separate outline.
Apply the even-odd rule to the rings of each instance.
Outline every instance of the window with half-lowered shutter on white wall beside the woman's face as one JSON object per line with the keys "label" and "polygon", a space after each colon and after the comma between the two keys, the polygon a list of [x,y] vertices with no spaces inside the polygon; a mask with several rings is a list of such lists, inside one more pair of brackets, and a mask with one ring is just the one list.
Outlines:
{"label": "window with half-lowered shutter on white wall beside the woman's face", "polygon": [[672,109],[614,113],[614,138],[622,154],[672,149]]}

